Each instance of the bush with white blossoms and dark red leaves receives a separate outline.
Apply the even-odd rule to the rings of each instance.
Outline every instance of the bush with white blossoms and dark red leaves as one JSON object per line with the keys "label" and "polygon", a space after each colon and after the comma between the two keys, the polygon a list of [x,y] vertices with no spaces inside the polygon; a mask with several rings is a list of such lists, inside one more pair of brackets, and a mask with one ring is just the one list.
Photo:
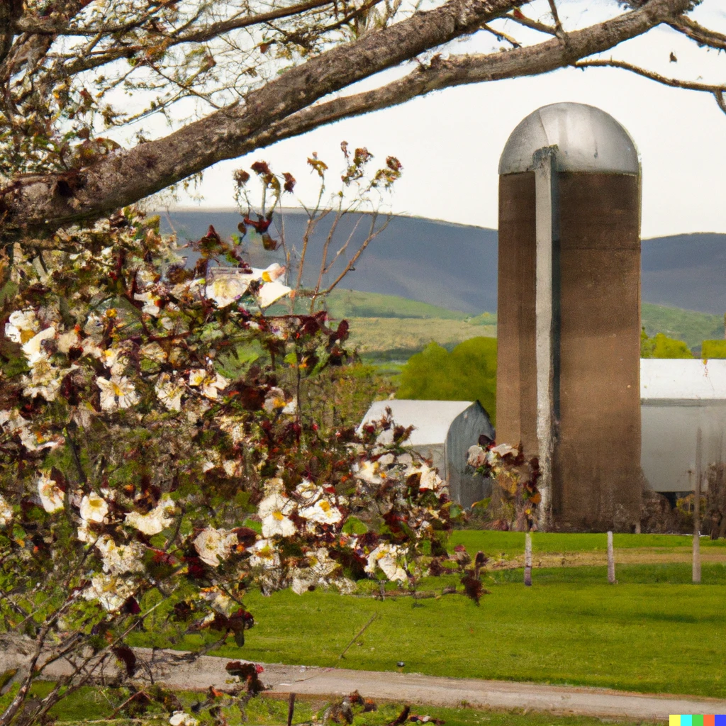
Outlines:
{"label": "bush with white blossoms and dark red leaves", "polygon": [[[347,323],[266,315],[290,294],[279,265],[250,268],[213,227],[195,248],[187,269],[126,209],[0,258],[0,637],[26,656],[0,725],[109,667],[138,677],[144,624],[164,645],[243,645],[250,588],[410,583],[446,554],[451,504],[408,432],[328,436],[298,406],[348,359]],[[70,674],[29,707],[61,658]],[[233,665],[233,696],[255,693],[256,669]],[[155,699],[193,722],[158,689],[118,708]]]}

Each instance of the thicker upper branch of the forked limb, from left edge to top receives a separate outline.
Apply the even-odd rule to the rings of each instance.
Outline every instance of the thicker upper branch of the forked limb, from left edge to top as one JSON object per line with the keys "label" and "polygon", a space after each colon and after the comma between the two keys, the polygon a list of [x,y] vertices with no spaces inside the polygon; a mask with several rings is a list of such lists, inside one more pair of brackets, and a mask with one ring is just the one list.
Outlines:
{"label": "thicker upper branch of the forked limb, from left edge to top", "polygon": [[15,234],[16,238],[23,234],[46,236],[63,224],[97,218],[217,161],[237,157],[246,139],[273,123],[351,83],[473,33],[481,23],[510,9],[514,1],[448,0],[441,7],[412,15],[359,41],[335,46],[250,92],[245,102],[86,168],[78,174],[71,196],[58,193],[52,175],[35,182],[17,180],[0,191],[10,223],[6,223],[4,234]]}

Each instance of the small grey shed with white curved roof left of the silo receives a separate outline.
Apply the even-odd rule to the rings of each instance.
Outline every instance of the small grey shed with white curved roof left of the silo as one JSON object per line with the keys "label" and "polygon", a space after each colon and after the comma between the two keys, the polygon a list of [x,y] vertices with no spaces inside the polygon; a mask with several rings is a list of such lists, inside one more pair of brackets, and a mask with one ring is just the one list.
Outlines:
{"label": "small grey shed with white curved roof left of the silo", "polygon": [[396,424],[415,427],[407,444],[433,461],[455,502],[470,507],[491,494],[489,480],[473,476],[466,463],[469,447],[482,433],[494,439],[489,414],[479,401],[375,401],[362,424],[379,420],[387,408]]}

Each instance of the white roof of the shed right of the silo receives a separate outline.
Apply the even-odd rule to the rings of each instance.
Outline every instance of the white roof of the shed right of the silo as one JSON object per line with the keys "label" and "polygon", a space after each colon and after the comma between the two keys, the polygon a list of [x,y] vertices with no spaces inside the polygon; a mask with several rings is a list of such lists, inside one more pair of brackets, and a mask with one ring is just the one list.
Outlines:
{"label": "white roof of the shed right of the silo", "polygon": [[726,400],[726,359],[641,359],[640,399]]}

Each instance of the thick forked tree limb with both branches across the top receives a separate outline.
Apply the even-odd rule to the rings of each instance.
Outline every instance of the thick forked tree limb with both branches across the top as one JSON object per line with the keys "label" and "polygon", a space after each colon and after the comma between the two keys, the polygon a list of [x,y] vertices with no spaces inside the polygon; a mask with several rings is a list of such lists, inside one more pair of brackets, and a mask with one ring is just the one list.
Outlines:
{"label": "thick forked tree limb with both branches across the top", "polygon": [[497,54],[473,54],[446,60],[436,56],[400,81],[383,88],[335,99],[317,100],[351,83],[392,68],[442,44],[473,33],[502,17],[513,0],[449,0],[419,12],[351,44],[336,46],[288,70],[252,91],[244,102],[131,150],[115,152],[78,173],[73,193],[65,196],[52,175],[17,179],[0,191],[6,213],[4,236],[46,236],[64,224],[95,219],[134,203],[220,160],[234,158],[288,136],[398,105],[437,89],[547,73],[611,49],[655,25],[670,22],[690,7],[690,0],[650,0],[591,28],[552,38],[536,46]]}

